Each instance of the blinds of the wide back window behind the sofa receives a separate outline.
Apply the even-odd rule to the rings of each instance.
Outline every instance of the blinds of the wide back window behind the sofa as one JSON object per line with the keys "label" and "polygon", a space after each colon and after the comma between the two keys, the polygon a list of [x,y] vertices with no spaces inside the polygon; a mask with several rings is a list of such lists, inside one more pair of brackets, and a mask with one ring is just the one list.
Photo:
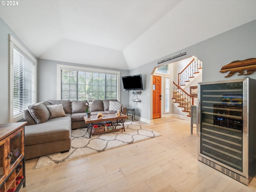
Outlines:
{"label": "blinds of the wide back window behind the sofa", "polygon": [[61,100],[117,99],[117,74],[61,70]]}

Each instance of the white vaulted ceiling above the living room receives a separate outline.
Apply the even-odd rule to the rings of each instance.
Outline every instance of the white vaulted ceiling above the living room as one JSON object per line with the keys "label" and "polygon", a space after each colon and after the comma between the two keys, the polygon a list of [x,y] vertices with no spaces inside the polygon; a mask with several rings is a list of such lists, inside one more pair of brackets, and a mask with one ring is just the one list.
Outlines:
{"label": "white vaulted ceiling above the living room", "polygon": [[19,0],[0,17],[38,58],[131,70],[256,19],[255,0]]}

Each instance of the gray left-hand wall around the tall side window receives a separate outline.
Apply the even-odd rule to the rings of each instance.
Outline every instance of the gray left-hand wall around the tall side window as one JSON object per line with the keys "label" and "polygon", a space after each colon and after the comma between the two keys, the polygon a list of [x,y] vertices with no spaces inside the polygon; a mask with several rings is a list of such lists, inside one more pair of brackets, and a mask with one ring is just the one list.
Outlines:
{"label": "gray left-hand wall around the tall side window", "polygon": [[9,122],[9,34],[36,58],[12,29],[0,18],[0,124]]}

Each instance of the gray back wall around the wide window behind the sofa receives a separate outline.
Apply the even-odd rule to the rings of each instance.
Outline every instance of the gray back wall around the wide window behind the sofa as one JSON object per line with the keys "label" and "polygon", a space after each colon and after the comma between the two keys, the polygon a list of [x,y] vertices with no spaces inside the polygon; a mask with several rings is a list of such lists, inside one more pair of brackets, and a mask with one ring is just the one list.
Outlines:
{"label": "gray back wall around the wide window behind the sofa", "polygon": [[[128,70],[38,59],[38,101],[57,99],[57,64],[120,71],[120,77],[129,75]],[[123,91],[123,86],[120,82],[120,102],[123,106],[129,106],[128,100],[128,92]]]}

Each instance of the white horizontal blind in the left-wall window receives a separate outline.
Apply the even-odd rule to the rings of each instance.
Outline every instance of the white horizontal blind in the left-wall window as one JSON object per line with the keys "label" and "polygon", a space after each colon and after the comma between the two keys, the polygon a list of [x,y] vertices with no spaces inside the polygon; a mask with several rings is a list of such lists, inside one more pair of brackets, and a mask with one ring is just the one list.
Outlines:
{"label": "white horizontal blind in the left-wall window", "polygon": [[13,116],[36,102],[35,63],[22,51],[13,48]]}

